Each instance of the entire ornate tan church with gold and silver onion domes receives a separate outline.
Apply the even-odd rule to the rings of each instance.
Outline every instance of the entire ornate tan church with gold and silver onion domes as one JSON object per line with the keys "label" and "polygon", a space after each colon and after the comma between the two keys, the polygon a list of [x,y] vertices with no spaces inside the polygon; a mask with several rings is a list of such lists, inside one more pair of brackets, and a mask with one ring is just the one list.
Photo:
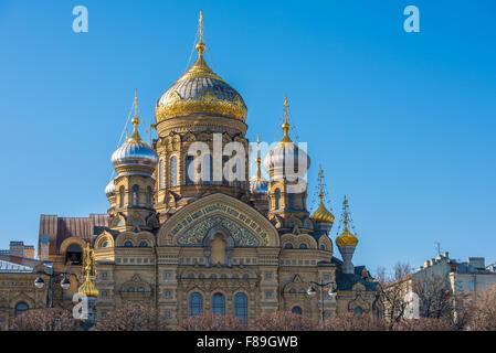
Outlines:
{"label": "entire ornate tan church with gold and silver onion domes", "polygon": [[[372,314],[377,284],[351,263],[358,239],[348,229],[347,201],[337,242],[344,261],[335,257],[335,218],[323,190],[316,212],[307,210],[310,159],[289,137],[287,100],[284,137],[263,161],[270,180],[260,149],[249,178],[247,108],[207,65],[201,21],[197,62],[158,99],[158,138],[152,146],[143,141],[135,108],[133,135],[112,156],[117,176],[105,189],[107,215],[92,215],[87,228],[72,233],[56,228],[60,220],[48,226],[43,216],[39,255],[55,272],[70,274],[75,289],[85,281],[81,259],[91,244],[97,315],[124,303],[158,308],[171,323],[208,312],[249,324],[275,310],[315,321],[323,311],[326,318]],[[289,164],[296,165],[291,173]],[[326,286],[320,291],[313,282]]]}

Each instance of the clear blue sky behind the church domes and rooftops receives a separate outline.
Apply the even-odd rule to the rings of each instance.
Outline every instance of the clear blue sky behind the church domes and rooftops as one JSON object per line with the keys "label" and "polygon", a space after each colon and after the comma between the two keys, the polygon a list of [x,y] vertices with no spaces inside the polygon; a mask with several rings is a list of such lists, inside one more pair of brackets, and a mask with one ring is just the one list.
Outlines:
{"label": "clear blue sky behind the church domes and rooftops", "polygon": [[[72,31],[77,4],[88,33]],[[403,31],[408,4],[420,33]],[[42,213],[106,212],[134,89],[150,121],[188,64],[200,9],[250,139],[274,139],[288,95],[310,194],[321,163],[337,218],[350,199],[357,265],[416,267],[434,242],[496,260],[492,0],[0,1],[0,248],[36,245]]]}

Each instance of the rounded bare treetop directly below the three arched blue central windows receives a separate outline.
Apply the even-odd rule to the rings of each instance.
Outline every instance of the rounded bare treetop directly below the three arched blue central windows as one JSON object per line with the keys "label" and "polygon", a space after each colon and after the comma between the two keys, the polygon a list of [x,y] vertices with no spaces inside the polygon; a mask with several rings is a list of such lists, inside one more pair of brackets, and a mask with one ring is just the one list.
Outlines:
{"label": "rounded bare treetop directly below the three arched blue central windows", "polygon": [[236,317],[205,314],[182,321],[179,330],[184,331],[243,331],[246,325]]}

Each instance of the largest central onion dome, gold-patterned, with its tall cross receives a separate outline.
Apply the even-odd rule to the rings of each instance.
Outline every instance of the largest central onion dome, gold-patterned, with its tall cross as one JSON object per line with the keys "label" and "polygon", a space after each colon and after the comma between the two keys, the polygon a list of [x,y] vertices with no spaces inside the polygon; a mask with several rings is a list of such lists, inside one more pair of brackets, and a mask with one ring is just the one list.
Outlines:
{"label": "largest central onion dome, gold-patterned, with its tall cross", "polygon": [[203,58],[202,14],[197,62],[158,99],[157,124],[173,117],[201,114],[246,120],[246,105],[241,95],[207,65]]}

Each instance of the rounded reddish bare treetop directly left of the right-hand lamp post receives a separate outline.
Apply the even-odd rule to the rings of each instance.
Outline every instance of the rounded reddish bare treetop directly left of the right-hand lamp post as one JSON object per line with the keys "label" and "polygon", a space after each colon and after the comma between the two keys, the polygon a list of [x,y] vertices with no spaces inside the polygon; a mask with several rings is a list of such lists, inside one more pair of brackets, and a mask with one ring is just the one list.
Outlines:
{"label": "rounded reddish bare treetop directly left of the right-hand lamp post", "polygon": [[291,311],[274,311],[260,317],[251,329],[254,331],[312,331],[315,325],[305,315]]}

